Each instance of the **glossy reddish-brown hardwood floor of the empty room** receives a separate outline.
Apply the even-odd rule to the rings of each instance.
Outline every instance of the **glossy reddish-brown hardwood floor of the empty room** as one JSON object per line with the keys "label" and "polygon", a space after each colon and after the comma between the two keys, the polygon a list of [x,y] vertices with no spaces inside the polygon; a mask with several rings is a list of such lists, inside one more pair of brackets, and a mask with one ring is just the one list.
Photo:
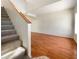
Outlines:
{"label": "glossy reddish-brown hardwood floor of the empty room", "polygon": [[50,59],[76,59],[76,42],[70,38],[32,32],[32,56]]}

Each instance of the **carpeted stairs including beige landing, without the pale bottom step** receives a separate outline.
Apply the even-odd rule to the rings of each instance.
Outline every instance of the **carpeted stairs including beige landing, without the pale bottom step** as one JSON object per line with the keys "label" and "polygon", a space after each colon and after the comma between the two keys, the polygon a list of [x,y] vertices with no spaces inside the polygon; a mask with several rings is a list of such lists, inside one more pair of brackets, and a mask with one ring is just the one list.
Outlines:
{"label": "carpeted stairs including beige landing, without the pale bottom step", "polygon": [[1,7],[1,44],[2,55],[21,46],[19,36],[4,7]]}

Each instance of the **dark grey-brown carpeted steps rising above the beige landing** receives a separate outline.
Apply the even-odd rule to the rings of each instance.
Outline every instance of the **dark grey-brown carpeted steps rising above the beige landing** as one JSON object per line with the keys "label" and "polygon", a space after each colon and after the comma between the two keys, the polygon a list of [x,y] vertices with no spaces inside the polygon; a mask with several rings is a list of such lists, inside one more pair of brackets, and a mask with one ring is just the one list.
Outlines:
{"label": "dark grey-brown carpeted steps rising above the beige landing", "polygon": [[1,43],[18,40],[19,36],[17,35],[4,7],[1,8],[1,12]]}

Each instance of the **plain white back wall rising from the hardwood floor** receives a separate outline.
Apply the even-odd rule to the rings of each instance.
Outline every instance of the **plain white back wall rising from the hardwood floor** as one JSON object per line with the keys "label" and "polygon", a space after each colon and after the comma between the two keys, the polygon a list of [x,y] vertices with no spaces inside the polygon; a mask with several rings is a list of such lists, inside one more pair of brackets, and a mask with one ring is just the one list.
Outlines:
{"label": "plain white back wall rising from the hardwood floor", "polygon": [[32,31],[62,37],[74,35],[73,9],[38,15],[32,19]]}

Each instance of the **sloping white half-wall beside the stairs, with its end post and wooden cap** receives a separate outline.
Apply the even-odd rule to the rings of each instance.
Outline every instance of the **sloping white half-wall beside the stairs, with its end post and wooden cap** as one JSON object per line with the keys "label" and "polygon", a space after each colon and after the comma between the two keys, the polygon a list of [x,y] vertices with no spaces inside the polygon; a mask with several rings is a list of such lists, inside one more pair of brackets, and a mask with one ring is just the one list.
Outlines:
{"label": "sloping white half-wall beside the stairs, with its end post and wooden cap", "polygon": [[22,45],[27,49],[27,54],[31,57],[31,22],[27,21],[28,18],[26,19],[26,17],[20,12],[21,10],[17,9],[12,1],[2,0],[2,4],[22,41]]}

